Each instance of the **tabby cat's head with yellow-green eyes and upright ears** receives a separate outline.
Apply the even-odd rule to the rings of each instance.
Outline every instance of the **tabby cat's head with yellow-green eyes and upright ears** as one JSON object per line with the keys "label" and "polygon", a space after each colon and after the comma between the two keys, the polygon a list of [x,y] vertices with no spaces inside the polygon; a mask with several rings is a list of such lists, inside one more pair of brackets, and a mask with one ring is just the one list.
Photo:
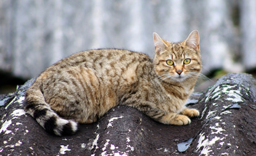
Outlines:
{"label": "tabby cat's head with yellow-green eyes and upright ears", "polygon": [[165,82],[183,82],[197,78],[202,69],[199,47],[199,33],[194,30],[183,42],[164,41],[157,33],[154,67],[157,76]]}

